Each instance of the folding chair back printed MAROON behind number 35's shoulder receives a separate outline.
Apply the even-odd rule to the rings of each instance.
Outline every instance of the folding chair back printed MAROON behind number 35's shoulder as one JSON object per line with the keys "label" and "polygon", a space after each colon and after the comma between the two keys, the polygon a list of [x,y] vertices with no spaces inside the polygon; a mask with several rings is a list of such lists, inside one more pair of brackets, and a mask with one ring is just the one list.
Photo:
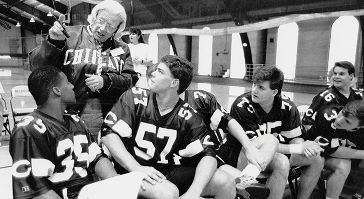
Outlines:
{"label": "folding chair back printed MAROON behind number 35's shoulder", "polygon": [[32,113],[37,104],[34,101],[32,94],[29,92],[27,85],[14,86],[11,90],[12,98],[10,105],[13,112],[14,126],[20,121],[19,116],[25,116]]}

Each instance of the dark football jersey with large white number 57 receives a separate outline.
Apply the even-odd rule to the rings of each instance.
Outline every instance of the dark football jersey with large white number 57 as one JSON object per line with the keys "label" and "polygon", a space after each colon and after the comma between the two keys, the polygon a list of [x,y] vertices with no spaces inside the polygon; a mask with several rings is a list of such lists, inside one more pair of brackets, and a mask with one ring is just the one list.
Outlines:
{"label": "dark football jersey with large white number 57", "polygon": [[197,154],[215,157],[218,145],[202,118],[182,99],[161,116],[156,93],[136,87],[125,92],[107,114],[101,137],[110,133],[119,135],[141,165],[156,169],[181,164],[183,158]]}

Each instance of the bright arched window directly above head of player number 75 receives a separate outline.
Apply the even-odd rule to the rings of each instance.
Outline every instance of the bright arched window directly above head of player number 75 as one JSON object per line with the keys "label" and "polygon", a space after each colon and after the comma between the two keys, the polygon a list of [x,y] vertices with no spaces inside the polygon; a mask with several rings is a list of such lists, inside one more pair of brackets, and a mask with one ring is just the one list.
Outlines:
{"label": "bright arched window directly above head of player number 75", "polygon": [[296,23],[278,28],[276,65],[285,79],[294,79],[296,73],[298,26]]}

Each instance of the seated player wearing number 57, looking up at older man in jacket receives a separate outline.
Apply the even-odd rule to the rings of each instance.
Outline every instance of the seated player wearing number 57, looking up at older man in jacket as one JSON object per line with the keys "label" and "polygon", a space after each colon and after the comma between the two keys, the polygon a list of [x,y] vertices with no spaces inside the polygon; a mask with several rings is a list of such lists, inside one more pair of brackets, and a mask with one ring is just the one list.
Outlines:
{"label": "seated player wearing number 57, looking up at older man in jacket", "polygon": [[[156,182],[158,192],[146,183],[151,198],[234,198],[233,178],[216,170],[215,136],[178,96],[192,77],[186,59],[164,56],[150,90],[132,88],[120,97],[105,118],[101,140],[117,172],[140,171]],[[165,192],[173,197],[159,195]]]}

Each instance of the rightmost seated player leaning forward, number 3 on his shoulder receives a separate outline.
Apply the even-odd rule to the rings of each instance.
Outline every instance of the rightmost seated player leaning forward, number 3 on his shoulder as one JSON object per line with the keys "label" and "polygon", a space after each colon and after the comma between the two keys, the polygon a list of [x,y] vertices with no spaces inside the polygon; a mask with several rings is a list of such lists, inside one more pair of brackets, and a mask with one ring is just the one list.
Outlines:
{"label": "rightmost seated player leaning forward, number 3 on his shoulder", "polygon": [[[326,199],[339,198],[350,173],[350,159],[364,159],[364,100],[320,109],[314,125],[307,131],[325,149],[325,168],[332,171],[326,182]],[[360,198],[360,197],[359,197]]]}

